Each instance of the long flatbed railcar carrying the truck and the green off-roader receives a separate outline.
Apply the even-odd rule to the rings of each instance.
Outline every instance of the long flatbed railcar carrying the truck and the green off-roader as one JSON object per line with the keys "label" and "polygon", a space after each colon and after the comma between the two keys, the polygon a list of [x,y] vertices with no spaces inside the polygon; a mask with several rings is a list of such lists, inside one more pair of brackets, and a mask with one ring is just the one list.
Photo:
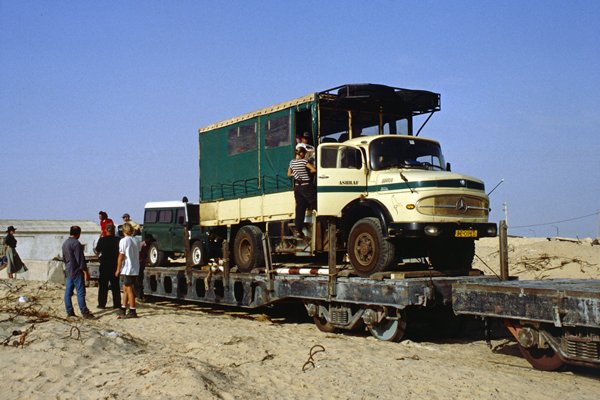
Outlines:
{"label": "long flatbed railcar carrying the truck and the green off-roader", "polygon": [[[290,270],[298,275],[290,274]],[[297,301],[305,305],[322,331],[352,330],[364,325],[377,339],[398,341],[410,323],[406,310],[449,310],[453,285],[498,280],[478,270],[464,276],[405,271],[375,278],[335,279],[328,271],[328,267],[315,266],[286,266],[255,273],[227,273],[219,267],[146,268],[144,291],[162,298],[246,308]],[[311,272],[315,275],[300,275]]]}

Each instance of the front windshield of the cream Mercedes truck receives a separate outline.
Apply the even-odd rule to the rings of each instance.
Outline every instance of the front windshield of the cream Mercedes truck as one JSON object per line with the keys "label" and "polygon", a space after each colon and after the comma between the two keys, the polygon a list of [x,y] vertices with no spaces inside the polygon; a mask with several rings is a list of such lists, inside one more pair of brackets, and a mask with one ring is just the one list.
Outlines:
{"label": "front windshield of the cream Mercedes truck", "polygon": [[417,138],[384,136],[369,146],[371,169],[416,168],[445,170],[440,145]]}

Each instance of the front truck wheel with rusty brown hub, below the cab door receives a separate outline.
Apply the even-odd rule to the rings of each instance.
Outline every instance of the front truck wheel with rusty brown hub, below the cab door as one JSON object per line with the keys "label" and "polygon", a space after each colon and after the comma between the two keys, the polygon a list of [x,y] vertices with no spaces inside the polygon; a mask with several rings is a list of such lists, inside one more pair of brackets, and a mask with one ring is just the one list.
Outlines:
{"label": "front truck wheel with rusty brown hub, below the cab door", "polygon": [[394,245],[383,237],[377,218],[359,219],[348,237],[348,257],[357,275],[385,271],[395,259]]}

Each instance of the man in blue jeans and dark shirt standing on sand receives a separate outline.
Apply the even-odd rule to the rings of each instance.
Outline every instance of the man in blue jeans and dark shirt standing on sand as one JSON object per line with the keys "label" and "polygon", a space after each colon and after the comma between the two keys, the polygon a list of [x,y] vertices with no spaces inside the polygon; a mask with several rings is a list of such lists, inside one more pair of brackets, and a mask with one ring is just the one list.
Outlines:
{"label": "man in blue jeans and dark shirt standing on sand", "polygon": [[77,292],[77,304],[81,316],[86,319],[93,319],[94,315],[85,304],[85,274],[87,274],[87,264],[83,254],[83,246],[79,242],[81,228],[77,225],[71,227],[69,238],[65,240],[62,246],[63,260],[65,261],[65,278],[67,287],[65,289],[65,308],[67,317],[75,317],[73,309],[73,292]]}

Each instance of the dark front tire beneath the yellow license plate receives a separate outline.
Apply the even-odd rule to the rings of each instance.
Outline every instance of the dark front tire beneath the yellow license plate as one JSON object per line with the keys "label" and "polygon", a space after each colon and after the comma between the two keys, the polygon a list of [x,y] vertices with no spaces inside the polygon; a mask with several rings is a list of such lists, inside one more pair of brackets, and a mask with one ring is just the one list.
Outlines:
{"label": "dark front tire beneath the yellow license plate", "polygon": [[464,272],[471,269],[475,257],[475,240],[450,239],[436,243],[429,250],[429,262],[434,269]]}

